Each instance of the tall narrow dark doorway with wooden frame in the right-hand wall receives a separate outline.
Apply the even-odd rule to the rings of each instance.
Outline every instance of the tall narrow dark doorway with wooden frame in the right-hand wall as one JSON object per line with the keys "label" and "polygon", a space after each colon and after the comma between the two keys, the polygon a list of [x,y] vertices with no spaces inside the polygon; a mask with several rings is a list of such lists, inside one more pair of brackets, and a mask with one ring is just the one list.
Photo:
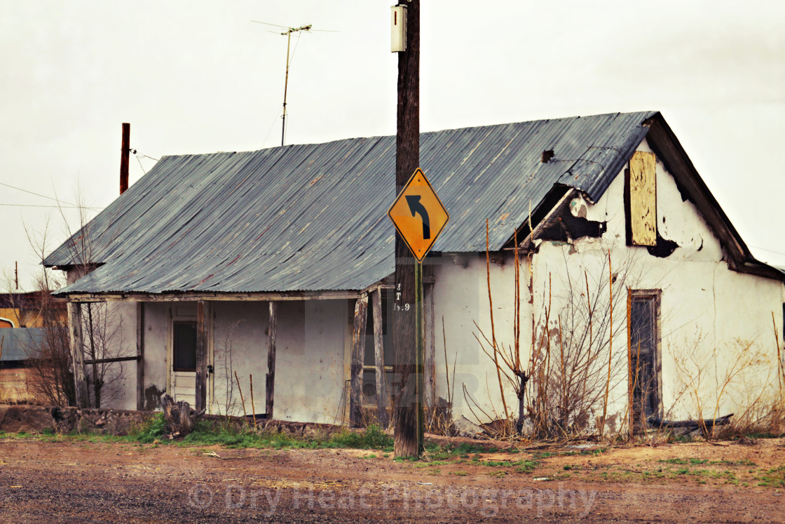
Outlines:
{"label": "tall narrow dark doorway with wooden frame in the right-hand wall", "polygon": [[633,424],[659,416],[659,290],[630,291],[630,380]]}

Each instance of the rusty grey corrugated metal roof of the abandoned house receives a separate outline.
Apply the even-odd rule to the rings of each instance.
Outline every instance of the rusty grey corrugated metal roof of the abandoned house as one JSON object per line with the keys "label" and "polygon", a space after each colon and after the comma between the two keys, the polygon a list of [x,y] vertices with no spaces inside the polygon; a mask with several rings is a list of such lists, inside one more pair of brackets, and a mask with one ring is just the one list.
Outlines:
{"label": "rusty grey corrugated metal roof of the abandoned house", "polygon": [[[555,184],[598,200],[656,113],[423,133],[420,165],[450,213],[434,251],[500,249]],[[554,157],[542,163],[542,152]],[[166,156],[86,228],[93,262],[69,292],[363,289],[394,270],[386,211],[395,137]],[[82,232],[46,258],[79,262]]]}

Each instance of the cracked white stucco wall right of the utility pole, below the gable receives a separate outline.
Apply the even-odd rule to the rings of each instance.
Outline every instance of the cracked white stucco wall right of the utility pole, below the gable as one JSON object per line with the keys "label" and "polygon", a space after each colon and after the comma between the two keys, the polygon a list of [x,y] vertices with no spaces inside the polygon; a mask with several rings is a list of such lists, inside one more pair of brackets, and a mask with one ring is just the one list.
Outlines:
{"label": "cracked white stucco wall right of the utility pole, below the gable", "polygon": [[[638,148],[650,152],[644,141]],[[695,416],[710,417],[730,412],[742,413],[750,401],[750,392],[761,390],[768,378],[776,383],[776,375],[769,376],[769,368],[776,366],[776,345],[772,329],[772,312],[781,322],[785,286],[777,280],[737,273],[728,269],[717,237],[711,231],[695,205],[682,200],[674,178],[663,163],[656,163],[657,222],[659,235],[672,240],[678,247],[665,258],[650,255],[645,247],[626,246],[623,205],[624,173],[612,181],[597,203],[576,199],[571,209],[576,216],[591,221],[607,222],[601,238],[582,238],[575,242],[543,242],[531,262],[534,280],[534,299],[529,303],[528,260],[520,262],[521,358],[528,362],[531,348],[531,319],[535,319],[535,333],[545,334],[544,317],[550,300],[550,332],[552,354],[557,357],[559,315],[568,314],[565,308],[572,299],[586,301],[586,278],[592,299],[601,295],[595,305],[593,332],[597,324],[607,322],[608,308],[608,251],[614,276],[614,318],[612,379],[608,394],[608,427],[616,431],[628,409],[626,363],[626,294],[633,290],[661,290],[659,346],[662,371],[663,415],[671,419]],[[444,342],[442,317],[447,338],[447,362],[450,373],[455,355],[454,415],[476,420],[469,410],[462,386],[477,401],[473,406],[483,422],[502,412],[498,379],[491,358],[480,350],[475,335],[480,330],[491,338],[491,322],[487,297],[487,273],[484,254],[464,254],[466,268],[455,264],[449,255],[436,263],[434,291],[436,313],[436,384],[437,395],[447,397],[444,372]],[[494,301],[496,339],[509,347],[513,343],[514,275],[512,255],[505,263],[491,262],[491,291]],[[604,313],[601,311],[604,308]],[[588,308],[584,308],[587,310]],[[598,313],[599,311],[599,313]],[[480,330],[474,322],[479,325]],[[568,336],[564,319],[564,336]],[[577,322],[580,327],[580,322]],[[586,324],[583,324],[586,328]],[[481,338],[481,336],[480,336]],[[597,366],[607,374],[609,331],[601,344]],[[538,342],[539,343],[539,342]],[[487,346],[487,344],[486,344]],[[746,351],[739,353],[741,348]],[[725,377],[738,367],[739,358],[750,354],[761,357],[758,365],[747,368],[746,374],[735,376],[717,397]],[[741,357],[739,357],[741,355]],[[746,356],[745,356],[746,355]],[[677,363],[679,365],[677,365]],[[736,365],[736,368],[734,368]],[[701,387],[690,389],[686,384]],[[451,377],[452,379],[452,377]],[[504,380],[508,408],[517,414],[517,398],[511,385]],[[604,386],[602,387],[604,390]],[[531,394],[531,383],[528,390]],[[756,394],[757,395],[757,394]],[[754,397],[752,397],[754,398]],[[700,405],[700,409],[699,409]],[[478,409],[479,408],[479,409]],[[602,415],[601,403],[590,422]]]}

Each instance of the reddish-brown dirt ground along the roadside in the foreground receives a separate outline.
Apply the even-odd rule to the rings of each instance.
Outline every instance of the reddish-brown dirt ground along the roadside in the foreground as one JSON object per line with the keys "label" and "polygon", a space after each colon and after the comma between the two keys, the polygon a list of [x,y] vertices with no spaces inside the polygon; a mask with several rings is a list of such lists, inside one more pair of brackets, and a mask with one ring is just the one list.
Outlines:
{"label": "reddish-brown dirt ground along the roadside in the foreground", "polygon": [[785,442],[470,453],[0,439],[2,522],[785,522]]}

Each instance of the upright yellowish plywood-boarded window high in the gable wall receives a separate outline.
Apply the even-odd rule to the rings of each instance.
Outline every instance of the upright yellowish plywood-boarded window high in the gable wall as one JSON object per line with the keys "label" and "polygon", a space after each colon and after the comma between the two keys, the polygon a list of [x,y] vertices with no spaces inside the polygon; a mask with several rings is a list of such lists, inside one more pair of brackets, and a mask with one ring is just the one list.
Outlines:
{"label": "upright yellowish plywood-boarded window high in the gable wall", "polygon": [[657,245],[656,157],[652,152],[636,151],[625,177],[625,215],[627,244]]}

